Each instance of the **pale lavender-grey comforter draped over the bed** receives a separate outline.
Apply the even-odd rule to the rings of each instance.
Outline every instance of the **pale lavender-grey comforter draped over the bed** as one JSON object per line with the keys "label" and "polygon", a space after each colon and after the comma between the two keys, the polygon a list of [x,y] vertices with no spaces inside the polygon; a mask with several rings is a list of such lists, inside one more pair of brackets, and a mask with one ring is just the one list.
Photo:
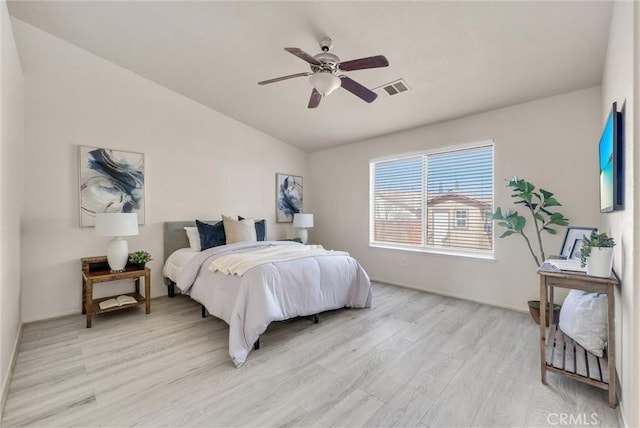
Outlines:
{"label": "pale lavender-grey comforter draped over the bed", "polygon": [[178,276],[183,294],[229,324],[229,355],[237,367],[272,321],[371,306],[367,273],[344,253],[262,264],[241,277],[208,269],[225,254],[283,245],[301,244],[263,241],[210,248],[193,257]]}

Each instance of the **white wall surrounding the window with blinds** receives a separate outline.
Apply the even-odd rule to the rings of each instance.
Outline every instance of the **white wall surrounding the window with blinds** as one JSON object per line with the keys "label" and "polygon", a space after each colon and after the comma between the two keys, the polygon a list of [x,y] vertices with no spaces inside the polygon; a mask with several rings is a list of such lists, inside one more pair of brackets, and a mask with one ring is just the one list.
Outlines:
{"label": "white wall surrounding the window with blinds", "polygon": [[[497,206],[510,206],[505,180],[518,175],[554,192],[571,224],[599,226],[600,118],[596,87],[310,154],[311,239],[348,250],[381,281],[526,310],[539,282],[519,237],[496,238],[495,261],[369,248],[369,160],[493,139]],[[562,237],[549,236],[549,254]]]}

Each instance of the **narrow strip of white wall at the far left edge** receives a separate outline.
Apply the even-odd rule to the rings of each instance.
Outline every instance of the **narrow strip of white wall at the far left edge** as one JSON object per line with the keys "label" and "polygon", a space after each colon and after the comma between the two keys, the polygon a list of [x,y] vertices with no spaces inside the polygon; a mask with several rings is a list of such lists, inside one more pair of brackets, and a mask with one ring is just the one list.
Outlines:
{"label": "narrow strip of white wall at the far left edge", "polygon": [[[5,1],[0,3],[0,380],[2,404],[20,330],[23,79]],[[0,409],[1,413],[1,409]]]}

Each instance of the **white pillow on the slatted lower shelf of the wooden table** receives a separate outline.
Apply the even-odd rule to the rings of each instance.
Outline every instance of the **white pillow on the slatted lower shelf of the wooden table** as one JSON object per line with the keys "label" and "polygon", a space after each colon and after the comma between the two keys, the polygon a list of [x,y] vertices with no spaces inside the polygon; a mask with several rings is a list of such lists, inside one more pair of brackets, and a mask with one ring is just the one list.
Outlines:
{"label": "white pillow on the slatted lower shelf of the wooden table", "polygon": [[592,354],[607,346],[607,295],[571,290],[560,309],[560,330]]}

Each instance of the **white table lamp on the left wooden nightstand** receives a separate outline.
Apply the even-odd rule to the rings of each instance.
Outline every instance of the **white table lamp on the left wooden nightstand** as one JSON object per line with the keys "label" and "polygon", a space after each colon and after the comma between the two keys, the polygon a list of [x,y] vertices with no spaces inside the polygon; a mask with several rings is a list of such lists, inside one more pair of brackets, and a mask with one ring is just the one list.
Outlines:
{"label": "white table lamp on the left wooden nightstand", "polygon": [[113,236],[107,247],[107,261],[112,272],[122,272],[129,259],[129,244],[125,236],[138,234],[138,214],[96,214],[96,235]]}

